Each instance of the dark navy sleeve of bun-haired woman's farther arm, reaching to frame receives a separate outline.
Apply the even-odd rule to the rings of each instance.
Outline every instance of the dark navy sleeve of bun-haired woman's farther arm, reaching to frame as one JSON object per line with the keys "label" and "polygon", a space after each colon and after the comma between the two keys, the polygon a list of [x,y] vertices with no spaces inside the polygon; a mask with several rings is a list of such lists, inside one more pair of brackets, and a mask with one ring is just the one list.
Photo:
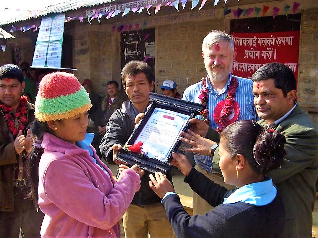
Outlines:
{"label": "dark navy sleeve of bun-haired woman's farther arm, reaching to frame", "polygon": [[184,182],[189,183],[191,189],[213,207],[222,204],[224,198],[233,192],[233,190],[228,191],[226,188],[214,183],[194,168],[184,178]]}

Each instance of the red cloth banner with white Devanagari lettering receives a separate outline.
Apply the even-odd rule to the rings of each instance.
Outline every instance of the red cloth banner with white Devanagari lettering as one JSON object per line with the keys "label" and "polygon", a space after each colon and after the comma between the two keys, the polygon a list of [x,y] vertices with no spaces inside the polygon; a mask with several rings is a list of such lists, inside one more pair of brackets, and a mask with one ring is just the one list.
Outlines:
{"label": "red cloth banner with white Devanagari lettering", "polygon": [[269,33],[232,32],[237,56],[232,74],[251,78],[266,63],[279,62],[298,75],[299,30]]}

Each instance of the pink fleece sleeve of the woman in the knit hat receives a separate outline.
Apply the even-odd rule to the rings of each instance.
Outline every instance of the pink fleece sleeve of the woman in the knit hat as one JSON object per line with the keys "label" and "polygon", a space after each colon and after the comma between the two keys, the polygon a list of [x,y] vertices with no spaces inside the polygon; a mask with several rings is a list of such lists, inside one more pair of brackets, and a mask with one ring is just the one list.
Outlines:
{"label": "pink fleece sleeve of the woman in the knit hat", "polygon": [[109,194],[102,193],[91,179],[76,163],[60,159],[47,166],[42,182],[46,198],[55,206],[82,223],[106,230],[128,209],[140,188],[140,178],[134,170],[126,169]]}

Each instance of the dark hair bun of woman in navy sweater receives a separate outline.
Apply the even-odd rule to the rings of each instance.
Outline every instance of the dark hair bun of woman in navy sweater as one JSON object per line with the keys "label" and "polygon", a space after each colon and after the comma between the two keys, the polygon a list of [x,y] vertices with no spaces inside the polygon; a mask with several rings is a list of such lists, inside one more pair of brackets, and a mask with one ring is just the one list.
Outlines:
{"label": "dark hair bun of woman in navy sweater", "polygon": [[257,164],[263,169],[263,173],[281,166],[286,154],[285,142],[285,136],[280,134],[280,131],[264,128],[259,133],[253,148],[253,155]]}

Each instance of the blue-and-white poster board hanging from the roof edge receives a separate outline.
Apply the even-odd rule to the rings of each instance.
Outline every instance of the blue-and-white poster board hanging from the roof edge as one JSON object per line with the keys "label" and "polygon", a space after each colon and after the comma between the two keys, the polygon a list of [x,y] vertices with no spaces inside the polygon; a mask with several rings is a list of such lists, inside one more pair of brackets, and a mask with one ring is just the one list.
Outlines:
{"label": "blue-and-white poster board hanging from the roof edge", "polygon": [[65,14],[43,17],[32,68],[61,68]]}

